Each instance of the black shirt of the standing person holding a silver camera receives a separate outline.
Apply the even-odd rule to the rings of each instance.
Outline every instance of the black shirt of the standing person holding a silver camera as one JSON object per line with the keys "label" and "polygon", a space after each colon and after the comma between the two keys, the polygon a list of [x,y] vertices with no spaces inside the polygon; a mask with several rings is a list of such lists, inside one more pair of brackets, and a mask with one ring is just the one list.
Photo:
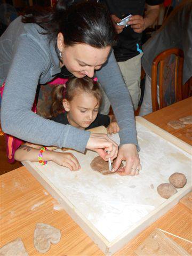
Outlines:
{"label": "black shirt of the standing person holding a silver camera", "polygon": [[[123,19],[129,14],[143,16],[145,3],[157,5],[163,3],[163,0],[102,0],[101,2],[107,5],[111,14]],[[142,33],[135,33],[130,26],[125,27],[122,33],[118,34],[117,45],[114,46],[116,60],[126,61],[138,55],[142,49],[141,36]]]}

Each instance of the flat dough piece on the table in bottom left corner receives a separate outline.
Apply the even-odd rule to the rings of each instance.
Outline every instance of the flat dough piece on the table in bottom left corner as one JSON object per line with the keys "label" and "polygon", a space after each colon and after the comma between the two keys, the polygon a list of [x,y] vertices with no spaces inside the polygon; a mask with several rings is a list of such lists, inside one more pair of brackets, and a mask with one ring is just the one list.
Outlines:
{"label": "flat dough piece on the table in bottom left corner", "polygon": [[1,256],[29,256],[28,252],[25,249],[21,238],[17,238],[12,242],[5,244],[0,249]]}

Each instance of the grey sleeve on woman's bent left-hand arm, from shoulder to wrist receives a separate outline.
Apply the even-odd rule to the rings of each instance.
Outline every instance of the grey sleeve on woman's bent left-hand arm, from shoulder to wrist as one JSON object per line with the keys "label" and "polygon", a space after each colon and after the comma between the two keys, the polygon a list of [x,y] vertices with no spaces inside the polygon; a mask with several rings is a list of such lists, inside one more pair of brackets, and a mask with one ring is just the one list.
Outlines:
{"label": "grey sleeve on woman's bent left-hand arm, from shoulder to wrist", "polygon": [[90,132],[47,120],[31,111],[39,77],[47,69],[45,54],[36,47],[26,38],[15,43],[2,98],[2,129],[31,143],[84,152]]}

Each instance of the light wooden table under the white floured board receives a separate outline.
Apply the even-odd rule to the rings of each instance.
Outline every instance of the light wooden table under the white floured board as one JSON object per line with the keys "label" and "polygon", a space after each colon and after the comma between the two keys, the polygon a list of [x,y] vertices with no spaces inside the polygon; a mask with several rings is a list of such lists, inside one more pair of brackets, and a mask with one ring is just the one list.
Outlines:
{"label": "light wooden table under the white floured board", "polygon": [[[182,140],[191,143],[188,138],[180,135],[182,130],[175,131],[166,125],[172,119],[191,115],[191,107],[192,101],[189,98],[158,110],[145,118]],[[190,125],[188,125],[188,129],[191,129]],[[37,222],[48,223],[61,230],[60,243],[52,245],[45,255],[103,255],[97,245],[64,210],[60,209],[58,202],[47,193],[25,167],[1,175],[0,246],[20,237],[29,255],[42,255],[35,250],[33,245],[33,235]],[[191,225],[191,211],[185,206],[185,201],[180,202],[114,255],[136,255],[134,250],[155,228],[161,228],[192,241]],[[192,254],[191,243],[171,235],[167,236]]]}

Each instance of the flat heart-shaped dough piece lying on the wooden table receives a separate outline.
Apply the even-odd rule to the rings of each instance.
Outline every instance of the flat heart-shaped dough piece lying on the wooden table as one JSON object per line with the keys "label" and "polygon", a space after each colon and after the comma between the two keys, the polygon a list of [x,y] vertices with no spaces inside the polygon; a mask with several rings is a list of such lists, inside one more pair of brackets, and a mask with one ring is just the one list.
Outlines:
{"label": "flat heart-shaped dough piece lying on the wooden table", "polygon": [[37,223],[34,232],[34,245],[38,252],[45,253],[49,251],[52,244],[59,243],[61,232],[48,224]]}

